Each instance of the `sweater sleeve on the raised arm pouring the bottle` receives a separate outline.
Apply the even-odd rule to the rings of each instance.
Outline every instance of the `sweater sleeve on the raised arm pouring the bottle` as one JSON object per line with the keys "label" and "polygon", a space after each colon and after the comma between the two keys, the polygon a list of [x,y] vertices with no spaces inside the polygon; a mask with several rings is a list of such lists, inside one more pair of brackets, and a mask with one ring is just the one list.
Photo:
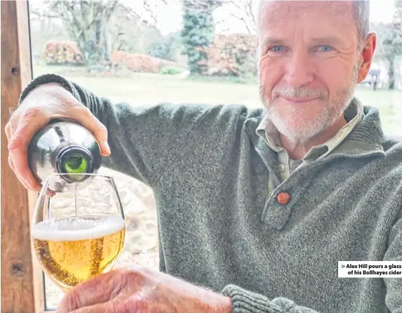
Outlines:
{"label": "sweater sleeve on the raised arm pouring the bottle", "polygon": [[197,105],[170,103],[149,107],[114,104],[55,74],[31,81],[22,91],[20,102],[34,88],[48,83],[60,84],[106,126],[111,154],[102,157],[102,166],[149,186],[156,184],[171,162],[183,156],[194,120],[202,110]]}

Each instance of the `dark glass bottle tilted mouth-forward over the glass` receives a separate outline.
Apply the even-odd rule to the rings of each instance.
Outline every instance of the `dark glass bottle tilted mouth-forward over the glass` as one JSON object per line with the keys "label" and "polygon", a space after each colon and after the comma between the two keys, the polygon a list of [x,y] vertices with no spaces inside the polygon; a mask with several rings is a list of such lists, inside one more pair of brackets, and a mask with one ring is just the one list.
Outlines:
{"label": "dark glass bottle tilted mouth-forward over the glass", "polygon": [[53,119],[34,135],[28,147],[29,168],[36,180],[43,182],[48,175],[65,174],[50,186],[54,192],[64,192],[73,182],[88,179],[76,174],[97,173],[101,158],[93,134],[69,119]]}

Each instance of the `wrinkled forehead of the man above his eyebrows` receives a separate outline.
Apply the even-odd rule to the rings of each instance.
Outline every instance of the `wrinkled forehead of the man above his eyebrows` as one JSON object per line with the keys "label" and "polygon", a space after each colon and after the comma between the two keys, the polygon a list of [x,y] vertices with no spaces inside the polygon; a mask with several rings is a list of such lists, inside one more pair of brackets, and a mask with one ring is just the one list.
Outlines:
{"label": "wrinkled forehead of the man above his eyebrows", "polygon": [[356,32],[352,1],[275,1],[262,0],[259,9],[259,31],[272,32],[300,20],[314,22],[315,27],[336,27]]}

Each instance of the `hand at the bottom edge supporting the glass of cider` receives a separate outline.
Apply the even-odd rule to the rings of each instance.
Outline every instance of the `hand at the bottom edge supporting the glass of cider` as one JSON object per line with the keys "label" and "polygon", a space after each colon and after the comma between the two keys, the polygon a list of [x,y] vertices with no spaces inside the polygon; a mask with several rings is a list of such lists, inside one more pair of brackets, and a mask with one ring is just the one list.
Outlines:
{"label": "hand at the bottom edge supporting the glass of cider", "polygon": [[57,313],[231,313],[232,300],[149,269],[114,269],[73,288]]}

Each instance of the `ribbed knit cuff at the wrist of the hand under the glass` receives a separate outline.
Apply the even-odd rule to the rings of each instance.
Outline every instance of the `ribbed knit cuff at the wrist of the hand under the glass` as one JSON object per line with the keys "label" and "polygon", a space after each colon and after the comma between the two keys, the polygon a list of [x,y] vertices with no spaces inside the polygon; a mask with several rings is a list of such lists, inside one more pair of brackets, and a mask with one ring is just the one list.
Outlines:
{"label": "ribbed knit cuff at the wrist of the hand under the glass", "polygon": [[233,313],[281,313],[280,307],[274,305],[264,295],[247,291],[235,285],[227,285],[222,293],[232,298]]}

